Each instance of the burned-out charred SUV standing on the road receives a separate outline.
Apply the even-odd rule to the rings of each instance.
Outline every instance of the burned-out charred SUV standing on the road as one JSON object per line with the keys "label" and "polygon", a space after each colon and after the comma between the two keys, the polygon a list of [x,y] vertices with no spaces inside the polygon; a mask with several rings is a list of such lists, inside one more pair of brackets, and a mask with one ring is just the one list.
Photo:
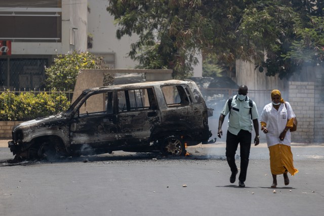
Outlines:
{"label": "burned-out charred SUV standing on the road", "polygon": [[178,156],[211,135],[195,82],[167,80],[84,90],[67,111],[15,125],[8,144],[15,159],[118,150]]}

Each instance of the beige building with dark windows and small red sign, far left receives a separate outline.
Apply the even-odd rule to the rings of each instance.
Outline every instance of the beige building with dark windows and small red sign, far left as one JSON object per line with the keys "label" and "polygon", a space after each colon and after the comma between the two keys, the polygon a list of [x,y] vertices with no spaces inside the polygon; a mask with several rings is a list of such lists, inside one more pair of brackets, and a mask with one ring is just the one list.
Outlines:
{"label": "beige building with dark windows and small red sign, far left", "polygon": [[0,88],[42,88],[56,55],[87,50],[87,0],[3,0],[0,26]]}

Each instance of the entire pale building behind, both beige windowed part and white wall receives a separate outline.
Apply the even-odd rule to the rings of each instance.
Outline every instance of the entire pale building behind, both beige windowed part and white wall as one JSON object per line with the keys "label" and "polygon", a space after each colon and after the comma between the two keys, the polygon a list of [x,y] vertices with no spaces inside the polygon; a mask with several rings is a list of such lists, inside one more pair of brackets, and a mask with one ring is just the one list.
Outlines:
{"label": "entire pale building behind, both beige windowed part and white wall", "polygon": [[[3,0],[0,2],[0,88],[44,88],[45,67],[57,55],[89,51],[111,69],[133,69],[128,57],[138,37],[115,36],[117,26],[101,0]],[[202,58],[194,76],[202,75]]]}

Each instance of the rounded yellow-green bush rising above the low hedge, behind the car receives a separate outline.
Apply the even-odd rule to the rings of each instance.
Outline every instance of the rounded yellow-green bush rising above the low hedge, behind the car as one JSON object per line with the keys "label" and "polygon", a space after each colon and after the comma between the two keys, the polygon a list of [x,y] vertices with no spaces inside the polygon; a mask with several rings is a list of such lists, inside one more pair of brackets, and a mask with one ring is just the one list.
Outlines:
{"label": "rounded yellow-green bush rising above the low hedge, behind the car", "polygon": [[[46,85],[50,89],[73,91],[80,69],[107,69],[102,57],[91,53],[73,53],[58,55],[54,64],[46,68]],[[111,81],[113,76],[110,75]]]}

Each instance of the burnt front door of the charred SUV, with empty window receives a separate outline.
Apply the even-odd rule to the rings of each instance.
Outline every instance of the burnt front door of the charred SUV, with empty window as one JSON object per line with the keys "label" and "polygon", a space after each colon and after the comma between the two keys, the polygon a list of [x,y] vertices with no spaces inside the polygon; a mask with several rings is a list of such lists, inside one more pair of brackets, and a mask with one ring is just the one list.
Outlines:
{"label": "burnt front door of the charred SUV, with empty window", "polygon": [[72,148],[112,148],[117,143],[113,92],[91,95],[70,124]]}

